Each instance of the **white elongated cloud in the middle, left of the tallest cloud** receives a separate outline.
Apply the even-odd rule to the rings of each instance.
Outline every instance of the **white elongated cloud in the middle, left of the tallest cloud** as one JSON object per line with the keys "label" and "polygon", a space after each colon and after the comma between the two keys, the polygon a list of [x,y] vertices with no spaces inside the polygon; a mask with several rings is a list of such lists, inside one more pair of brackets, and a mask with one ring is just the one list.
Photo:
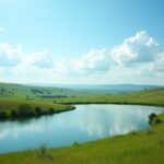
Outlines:
{"label": "white elongated cloud in the middle, left of the tallest cloud", "polygon": [[72,75],[104,73],[109,70],[109,56],[106,49],[91,49],[79,58],[65,58],[56,62],[56,71]]}

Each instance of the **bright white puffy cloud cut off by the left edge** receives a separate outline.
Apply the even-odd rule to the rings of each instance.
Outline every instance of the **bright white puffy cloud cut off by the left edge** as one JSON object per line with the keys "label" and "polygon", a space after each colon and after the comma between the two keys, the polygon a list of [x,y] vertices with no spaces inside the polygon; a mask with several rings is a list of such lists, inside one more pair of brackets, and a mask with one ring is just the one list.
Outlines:
{"label": "bright white puffy cloud cut off by the left edge", "polygon": [[14,67],[20,62],[22,48],[12,48],[9,44],[0,44],[0,67]]}

